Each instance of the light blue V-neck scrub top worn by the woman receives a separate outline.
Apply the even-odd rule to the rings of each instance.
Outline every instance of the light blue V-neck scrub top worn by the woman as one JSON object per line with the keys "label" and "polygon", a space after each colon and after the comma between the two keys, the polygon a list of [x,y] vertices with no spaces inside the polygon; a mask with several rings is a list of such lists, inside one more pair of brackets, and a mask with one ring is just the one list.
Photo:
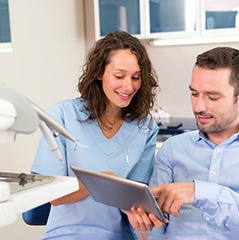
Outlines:
{"label": "light blue V-neck scrub top worn by the woman", "polygon": [[[63,100],[53,106],[50,115],[89,148],[76,147],[73,142],[58,136],[63,156],[61,162],[42,137],[31,171],[46,175],[74,176],[70,169],[74,165],[96,172],[112,171],[121,177],[148,183],[153,171],[157,124],[149,116],[141,128],[137,126],[137,121],[125,121],[115,136],[108,139],[97,121],[81,122],[86,119],[85,113],[81,111],[83,104],[85,102],[81,102],[80,98]],[[120,210],[97,203],[89,196],[76,203],[53,206],[43,239],[128,238]]]}

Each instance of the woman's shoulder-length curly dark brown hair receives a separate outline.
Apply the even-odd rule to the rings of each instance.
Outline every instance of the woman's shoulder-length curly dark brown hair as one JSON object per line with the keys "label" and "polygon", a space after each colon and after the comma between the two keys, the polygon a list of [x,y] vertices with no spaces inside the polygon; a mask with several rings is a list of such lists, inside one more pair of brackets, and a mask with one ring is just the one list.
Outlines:
{"label": "woman's shoulder-length curly dark brown hair", "polygon": [[106,66],[110,63],[112,51],[120,49],[129,49],[137,57],[142,79],[141,87],[130,104],[122,108],[122,119],[129,121],[138,119],[140,123],[150,114],[158,87],[157,74],[142,43],[127,32],[116,31],[95,43],[82,68],[83,74],[79,78],[77,89],[87,103],[85,106],[85,111],[88,112],[87,120],[101,119],[105,113],[108,99],[97,77],[104,74]]}

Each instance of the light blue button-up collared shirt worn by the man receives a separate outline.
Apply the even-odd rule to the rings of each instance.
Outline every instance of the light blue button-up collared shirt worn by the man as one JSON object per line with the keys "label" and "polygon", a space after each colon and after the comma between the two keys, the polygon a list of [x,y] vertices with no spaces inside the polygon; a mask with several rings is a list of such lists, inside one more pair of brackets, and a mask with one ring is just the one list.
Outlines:
{"label": "light blue button-up collared shirt worn by the man", "polygon": [[195,181],[194,204],[148,239],[239,239],[239,135],[218,146],[198,130],[169,138],[157,153],[150,186],[188,181]]}

